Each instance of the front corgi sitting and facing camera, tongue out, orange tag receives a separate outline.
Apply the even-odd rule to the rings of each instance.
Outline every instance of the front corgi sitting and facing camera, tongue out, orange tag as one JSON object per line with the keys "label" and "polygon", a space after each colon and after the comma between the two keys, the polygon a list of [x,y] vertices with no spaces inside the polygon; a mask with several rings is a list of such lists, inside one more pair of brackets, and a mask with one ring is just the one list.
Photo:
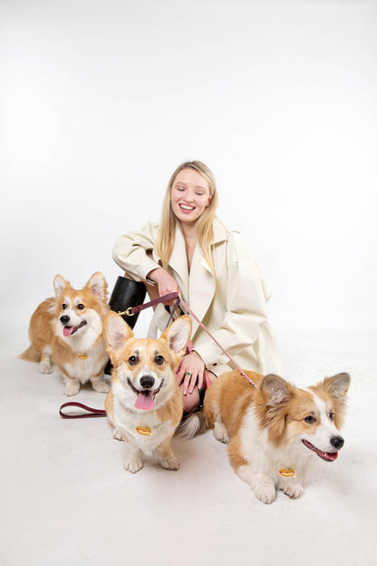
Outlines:
{"label": "front corgi sitting and facing camera, tongue out, orange tag", "polygon": [[157,454],[163,468],[178,470],[170,441],[183,413],[176,369],[186,353],[190,318],[179,317],[159,340],[137,339],[111,311],[104,334],[113,366],[105,408],[114,438],[127,442],[125,469],[139,472],[143,454]]}

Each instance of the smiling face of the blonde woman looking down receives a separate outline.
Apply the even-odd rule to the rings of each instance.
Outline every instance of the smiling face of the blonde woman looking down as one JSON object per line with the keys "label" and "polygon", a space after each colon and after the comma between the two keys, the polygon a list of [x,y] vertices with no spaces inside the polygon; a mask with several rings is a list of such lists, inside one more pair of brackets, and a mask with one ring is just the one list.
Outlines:
{"label": "smiling face of the blonde woman looking down", "polygon": [[208,181],[194,169],[179,171],[170,196],[174,215],[187,225],[195,224],[212,199]]}

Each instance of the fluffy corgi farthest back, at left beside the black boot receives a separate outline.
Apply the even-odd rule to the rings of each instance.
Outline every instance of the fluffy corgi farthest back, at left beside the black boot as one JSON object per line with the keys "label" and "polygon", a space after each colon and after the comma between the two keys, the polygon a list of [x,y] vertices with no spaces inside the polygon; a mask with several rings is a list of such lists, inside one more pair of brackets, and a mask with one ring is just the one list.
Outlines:
{"label": "fluffy corgi farthest back, at left beside the black boot", "polygon": [[103,337],[107,284],[102,273],[92,275],[76,290],[61,275],[53,278],[54,298],[47,298],[30,320],[29,346],[20,356],[39,362],[41,374],[53,372],[52,362],[63,376],[65,395],[77,395],[80,384],[92,382],[96,391],[110,389],[103,379],[109,356]]}

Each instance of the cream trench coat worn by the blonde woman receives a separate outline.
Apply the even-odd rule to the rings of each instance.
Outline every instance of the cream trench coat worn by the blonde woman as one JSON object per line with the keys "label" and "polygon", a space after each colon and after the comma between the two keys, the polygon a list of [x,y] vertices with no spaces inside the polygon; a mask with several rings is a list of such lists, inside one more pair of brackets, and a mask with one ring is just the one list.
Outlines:
{"label": "cream trench coat worn by the blonde woman", "polygon": [[[140,231],[124,234],[115,242],[113,259],[137,281],[146,281],[148,273],[161,266],[155,252],[158,229],[157,224],[149,222]],[[169,273],[176,279],[182,298],[243,369],[264,372],[260,344],[263,335],[281,375],[275,336],[266,317],[270,293],[256,259],[238,232],[227,229],[220,220],[214,222],[211,247],[216,280],[198,246],[189,272],[185,241],[177,226]],[[152,258],[147,255],[147,250],[152,251]],[[157,337],[168,321],[166,309],[158,305],[150,323],[149,337]],[[194,319],[191,340],[205,365],[215,374],[234,369],[227,356]]]}

